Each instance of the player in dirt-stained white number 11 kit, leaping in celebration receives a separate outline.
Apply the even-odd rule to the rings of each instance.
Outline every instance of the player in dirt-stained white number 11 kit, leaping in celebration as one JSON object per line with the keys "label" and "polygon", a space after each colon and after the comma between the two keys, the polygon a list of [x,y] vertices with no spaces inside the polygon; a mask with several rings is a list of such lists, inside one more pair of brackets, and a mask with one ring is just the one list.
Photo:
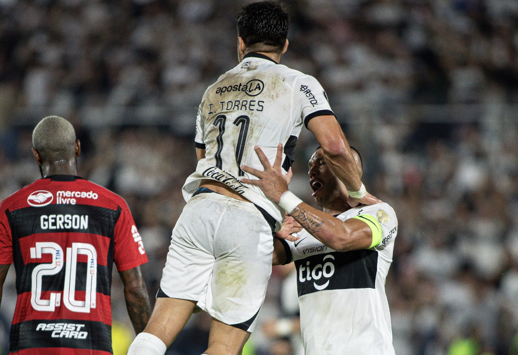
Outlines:
{"label": "player in dirt-stained white number 11 kit, leaping in celebration", "polygon": [[162,355],[192,312],[212,316],[206,354],[238,354],[255,326],[271,273],[272,233],[284,211],[240,182],[240,166],[260,168],[281,153],[283,173],[306,126],[351,191],[351,204],[376,203],[359,178],[349,144],[322,86],[280,65],[289,15],[275,2],[243,7],[237,18],[240,63],[207,88],[196,121],[198,166],[183,186],[187,204],[172,231],[156,304],[128,354]]}

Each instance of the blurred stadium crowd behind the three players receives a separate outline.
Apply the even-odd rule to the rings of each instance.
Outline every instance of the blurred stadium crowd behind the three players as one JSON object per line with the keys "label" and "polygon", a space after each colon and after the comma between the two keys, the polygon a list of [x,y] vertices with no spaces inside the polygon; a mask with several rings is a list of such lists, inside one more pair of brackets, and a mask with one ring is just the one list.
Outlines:
{"label": "blurred stadium crowd behind the three players", "polygon": [[[154,299],[181,186],[195,168],[196,109],[237,64],[243,4],[0,0],[0,199],[39,178],[34,125],[51,114],[70,120],[83,147],[80,175],[130,205]],[[322,83],[362,152],[368,190],[398,214],[386,282],[396,353],[518,353],[518,2],[285,4],[292,25],[282,63]],[[305,201],[314,148],[305,130],[292,186]],[[116,353],[133,337],[121,289],[114,275]],[[297,336],[272,328],[296,317],[295,292],[291,268],[274,268],[248,354],[300,354]],[[3,351],[15,295],[11,268]],[[195,315],[168,354],[199,355],[208,326]]]}

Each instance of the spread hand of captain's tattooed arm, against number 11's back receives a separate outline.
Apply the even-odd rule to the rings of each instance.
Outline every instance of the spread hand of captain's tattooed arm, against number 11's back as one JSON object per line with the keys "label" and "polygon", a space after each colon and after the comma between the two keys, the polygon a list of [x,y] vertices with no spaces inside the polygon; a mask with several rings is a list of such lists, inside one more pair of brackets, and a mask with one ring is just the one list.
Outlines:
{"label": "spread hand of captain's tattooed arm, against number 11's back", "polygon": [[281,195],[288,189],[288,184],[292,176],[291,169],[286,175],[281,171],[282,144],[279,143],[277,146],[277,155],[275,157],[274,165],[270,165],[268,158],[260,147],[256,146],[254,147],[254,150],[264,167],[264,171],[242,165],[241,169],[243,171],[255,176],[259,180],[241,179],[241,182],[258,186],[267,198],[272,202],[279,203]]}

